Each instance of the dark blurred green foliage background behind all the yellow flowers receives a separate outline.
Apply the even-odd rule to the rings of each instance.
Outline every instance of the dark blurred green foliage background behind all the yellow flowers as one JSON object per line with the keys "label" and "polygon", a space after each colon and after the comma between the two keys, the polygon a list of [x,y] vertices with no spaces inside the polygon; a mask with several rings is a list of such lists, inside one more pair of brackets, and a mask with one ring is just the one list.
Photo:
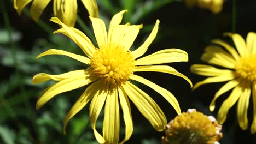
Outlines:
{"label": "dark blurred green foliage background behind all the yellow flowers", "polygon": [[[47,86],[54,82],[32,85],[33,75],[37,73],[62,74],[67,71],[85,68],[80,62],[65,56],[47,56],[35,60],[39,53],[48,49],[62,49],[82,54],[82,50],[72,40],[62,34],[52,34],[59,28],[49,19],[53,16],[50,2],[40,17],[34,22],[29,13],[31,4],[19,16],[11,0],[1,0],[0,12],[0,143],[97,143],[89,122],[89,104],[69,121],[67,134],[62,134],[62,126],[68,110],[83,93],[84,88],[75,89],[57,95],[36,111],[36,101]],[[194,83],[205,77],[192,74],[191,64],[203,63],[200,57],[204,48],[212,39],[223,39],[224,32],[235,32],[246,38],[248,32],[256,32],[256,1],[224,2],[223,10],[213,14],[208,9],[187,8],[183,1],[172,0],[132,0],[132,1],[97,1],[101,19],[109,22],[120,10],[128,9],[123,23],[131,25],[143,23],[132,49],[140,46],[150,34],[156,19],[160,20],[159,31],[147,54],[167,49],[178,48],[188,52],[189,62],[170,63],[172,67],[189,77]],[[95,42],[88,12],[78,1],[79,19],[75,28],[85,32]],[[229,93],[217,100],[216,110],[210,112],[208,105],[218,89],[224,83],[212,83],[201,86],[194,92],[189,83],[180,77],[162,73],[138,73],[150,81],[168,89],[178,99],[182,111],[195,108],[206,115],[217,116],[218,109]],[[138,84],[139,85],[139,84]],[[167,121],[177,116],[173,107],[160,94],[147,86],[139,86],[147,92],[164,111]],[[154,144],[161,143],[164,132],[159,133],[131,103],[134,131],[126,143]],[[121,114],[122,115],[122,114]],[[249,127],[253,116],[252,98],[248,109]],[[120,139],[125,133],[123,116],[120,116]],[[98,118],[97,129],[101,131],[103,112]],[[223,125],[223,138],[220,143],[256,143],[256,135],[238,127],[236,104]]]}

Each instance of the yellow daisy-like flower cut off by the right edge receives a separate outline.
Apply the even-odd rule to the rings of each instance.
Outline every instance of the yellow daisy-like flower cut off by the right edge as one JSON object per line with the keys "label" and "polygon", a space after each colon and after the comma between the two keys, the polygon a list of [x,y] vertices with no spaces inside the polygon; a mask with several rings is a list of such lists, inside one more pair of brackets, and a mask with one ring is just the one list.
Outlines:
{"label": "yellow daisy-like flower cut off by the right edge", "polygon": [[[216,99],[223,93],[234,88],[228,99],[224,101],[218,112],[218,121],[223,124],[229,109],[237,104],[237,119],[240,127],[246,130],[248,127],[247,110],[249,98],[252,91],[253,97],[253,122],[251,133],[256,132],[256,33],[249,32],[245,40],[239,34],[225,33],[232,38],[237,51],[234,47],[222,40],[213,40],[214,44],[205,49],[201,59],[210,64],[214,64],[226,69],[218,69],[210,65],[194,64],[191,71],[198,75],[210,76],[207,79],[197,82],[193,89],[212,82],[227,82],[215,94],[210,104],[210,110],[215,108]],[[220,46],[223,46],[223,50]]]}

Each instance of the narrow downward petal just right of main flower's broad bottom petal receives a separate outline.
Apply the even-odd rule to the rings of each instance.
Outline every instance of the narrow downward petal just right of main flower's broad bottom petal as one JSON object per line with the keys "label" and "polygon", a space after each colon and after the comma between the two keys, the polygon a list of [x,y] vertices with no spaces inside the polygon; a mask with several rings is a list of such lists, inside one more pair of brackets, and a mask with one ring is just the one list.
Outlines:
{"label": "narrow downward petal just right of main flower's broad bottom petal", "polygon": [[133,131],[133,124],[130,102],[127,98],[127,94],[125,93],[123,87],[118,86],[118,95],[123,113],[125,113],[125,115],[123,115],[125,122],[125,138],[123,141],[120,142],[120,144],[123,144],[131,137]]}

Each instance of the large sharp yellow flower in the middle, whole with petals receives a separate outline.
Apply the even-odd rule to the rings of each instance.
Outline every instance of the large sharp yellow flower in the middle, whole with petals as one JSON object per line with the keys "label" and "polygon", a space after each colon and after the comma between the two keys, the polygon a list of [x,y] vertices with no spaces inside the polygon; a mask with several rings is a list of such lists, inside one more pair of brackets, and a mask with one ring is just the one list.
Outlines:
{"label": "large sharp yellow flower in the middle, whole with petals", "polygon": [[[119,25],[125,12],[126,10],[123,10],[113,16],[108,32],[101,19],[90,17],[98,44],[97,48],[78,29],[67,27],[57,17],[51,19],[51,21],[62,26],[62,28],[54,33],[67,35],[67,37],[79,45],[86,56],[50,49],[41,53],[37,58],[46,55],[65,55],[89,65],[88,69],[70,71],[61,75],[40,73],[33,77],[33,83],[40,83],[50,79],[59,81],[45,89],[37,101],[37,109],[57,94],[90,84],[68,112],[64,123],[64,133],[69,119],[83,109],[90,100],[90,122],[95,137],[100,143],[118,143],[119,141],[119,102],[124,113],[126,125],[126,135],[121,143],[127,141],[131,136],[133,124],[129,99],[156,130],[164,130],[167,124],[164,113],[147,93],[130,82],[132,80],[143,83],[160,93],[174,107],[178,114],[181,113],[178,101],[169,91],[133,73],[155,71],[173,74],[187,80],[191,85],[191,81],[174,68],[167,65],[155,65],[188,61],[187,52],[179,49],[165,49],[137,59],[147,51],[148,46],[156,37],[159,20],[156,21],[147,40],[138,49],[130,51],[129,49],[142,25],[130,25],[130,23]],[[102,136],[97,132],[95,125],[103,105],[105,107]]]}

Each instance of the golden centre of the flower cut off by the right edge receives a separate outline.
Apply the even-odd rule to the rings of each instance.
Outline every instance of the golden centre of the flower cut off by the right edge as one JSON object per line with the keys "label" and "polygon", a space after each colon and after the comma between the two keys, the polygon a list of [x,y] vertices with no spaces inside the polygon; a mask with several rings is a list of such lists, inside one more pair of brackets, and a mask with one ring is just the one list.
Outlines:
{"label": "golden centre of the flower cut off by the right edge", "polygon": [[236,64],[235,74],[243,80],[256,80],[256,56],[241,58]]}

